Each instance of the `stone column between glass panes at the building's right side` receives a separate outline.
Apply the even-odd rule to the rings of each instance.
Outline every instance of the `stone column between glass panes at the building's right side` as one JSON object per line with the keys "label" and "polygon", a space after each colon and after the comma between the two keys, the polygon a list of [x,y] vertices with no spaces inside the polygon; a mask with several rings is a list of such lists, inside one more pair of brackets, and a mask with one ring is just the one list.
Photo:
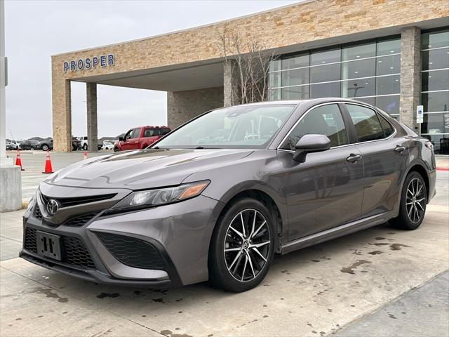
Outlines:
{"label": "stone column between glass panes at the building's right side", "polygon": [[414,131],[416,107],[421,91],[421,29],[406,27],[401,32],[401,121]]}

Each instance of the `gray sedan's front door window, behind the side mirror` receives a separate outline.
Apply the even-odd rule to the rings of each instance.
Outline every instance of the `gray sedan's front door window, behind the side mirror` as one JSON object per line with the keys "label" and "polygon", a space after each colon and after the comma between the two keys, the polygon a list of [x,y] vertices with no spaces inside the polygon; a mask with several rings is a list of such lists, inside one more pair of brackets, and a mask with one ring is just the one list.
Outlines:
{"label": "gray sedan's front door window, behind the side mirror", "polygon": [[347,133],[338,106],[336,104],[322,105],[307,112],[293,128],[281,148],[295,150],[298,140],[308,134],[328,136],[331,147],[346,145],[348,143]]}

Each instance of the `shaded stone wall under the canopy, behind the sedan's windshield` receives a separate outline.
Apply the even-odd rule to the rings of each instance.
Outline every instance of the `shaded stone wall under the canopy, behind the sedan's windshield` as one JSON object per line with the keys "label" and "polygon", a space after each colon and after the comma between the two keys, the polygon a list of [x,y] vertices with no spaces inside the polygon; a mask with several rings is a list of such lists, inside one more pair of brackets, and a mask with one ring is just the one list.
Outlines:
{"label": "shaded stone wall under the canopy, behind the sedan's windshield", "polygon": [[167,93],[168,126],[175,128],[203,112],[223,106],[223,87]]}

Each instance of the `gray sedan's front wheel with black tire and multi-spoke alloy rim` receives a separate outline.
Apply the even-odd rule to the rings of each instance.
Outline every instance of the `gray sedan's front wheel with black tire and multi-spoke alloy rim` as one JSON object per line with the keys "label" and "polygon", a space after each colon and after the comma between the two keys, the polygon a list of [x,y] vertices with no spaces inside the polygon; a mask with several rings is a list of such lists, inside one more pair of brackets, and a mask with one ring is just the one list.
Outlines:
{"label": "gray sedan's front wheel with black tire and multi-spoke alloy rim", "polygon": [[262,282],[272,264],[276,230],[271,213],[260,201],[235,201],[220,217],[209,251],[209,280],[232,292]]}

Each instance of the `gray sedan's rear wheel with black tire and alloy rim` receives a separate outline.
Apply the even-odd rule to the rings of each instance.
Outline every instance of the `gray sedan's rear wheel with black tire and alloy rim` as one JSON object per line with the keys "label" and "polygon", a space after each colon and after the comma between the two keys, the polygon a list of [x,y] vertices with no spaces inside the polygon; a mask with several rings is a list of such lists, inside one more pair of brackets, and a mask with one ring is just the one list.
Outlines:
{"label": "gray sedan's rear wheel with black tire and alloy rim", "polygon": [[416,171],[408,173],[401,192],[399,215],[390,220],[391,225],[401,230],[420,227],[427,206],[427,190],[424,179]]}

